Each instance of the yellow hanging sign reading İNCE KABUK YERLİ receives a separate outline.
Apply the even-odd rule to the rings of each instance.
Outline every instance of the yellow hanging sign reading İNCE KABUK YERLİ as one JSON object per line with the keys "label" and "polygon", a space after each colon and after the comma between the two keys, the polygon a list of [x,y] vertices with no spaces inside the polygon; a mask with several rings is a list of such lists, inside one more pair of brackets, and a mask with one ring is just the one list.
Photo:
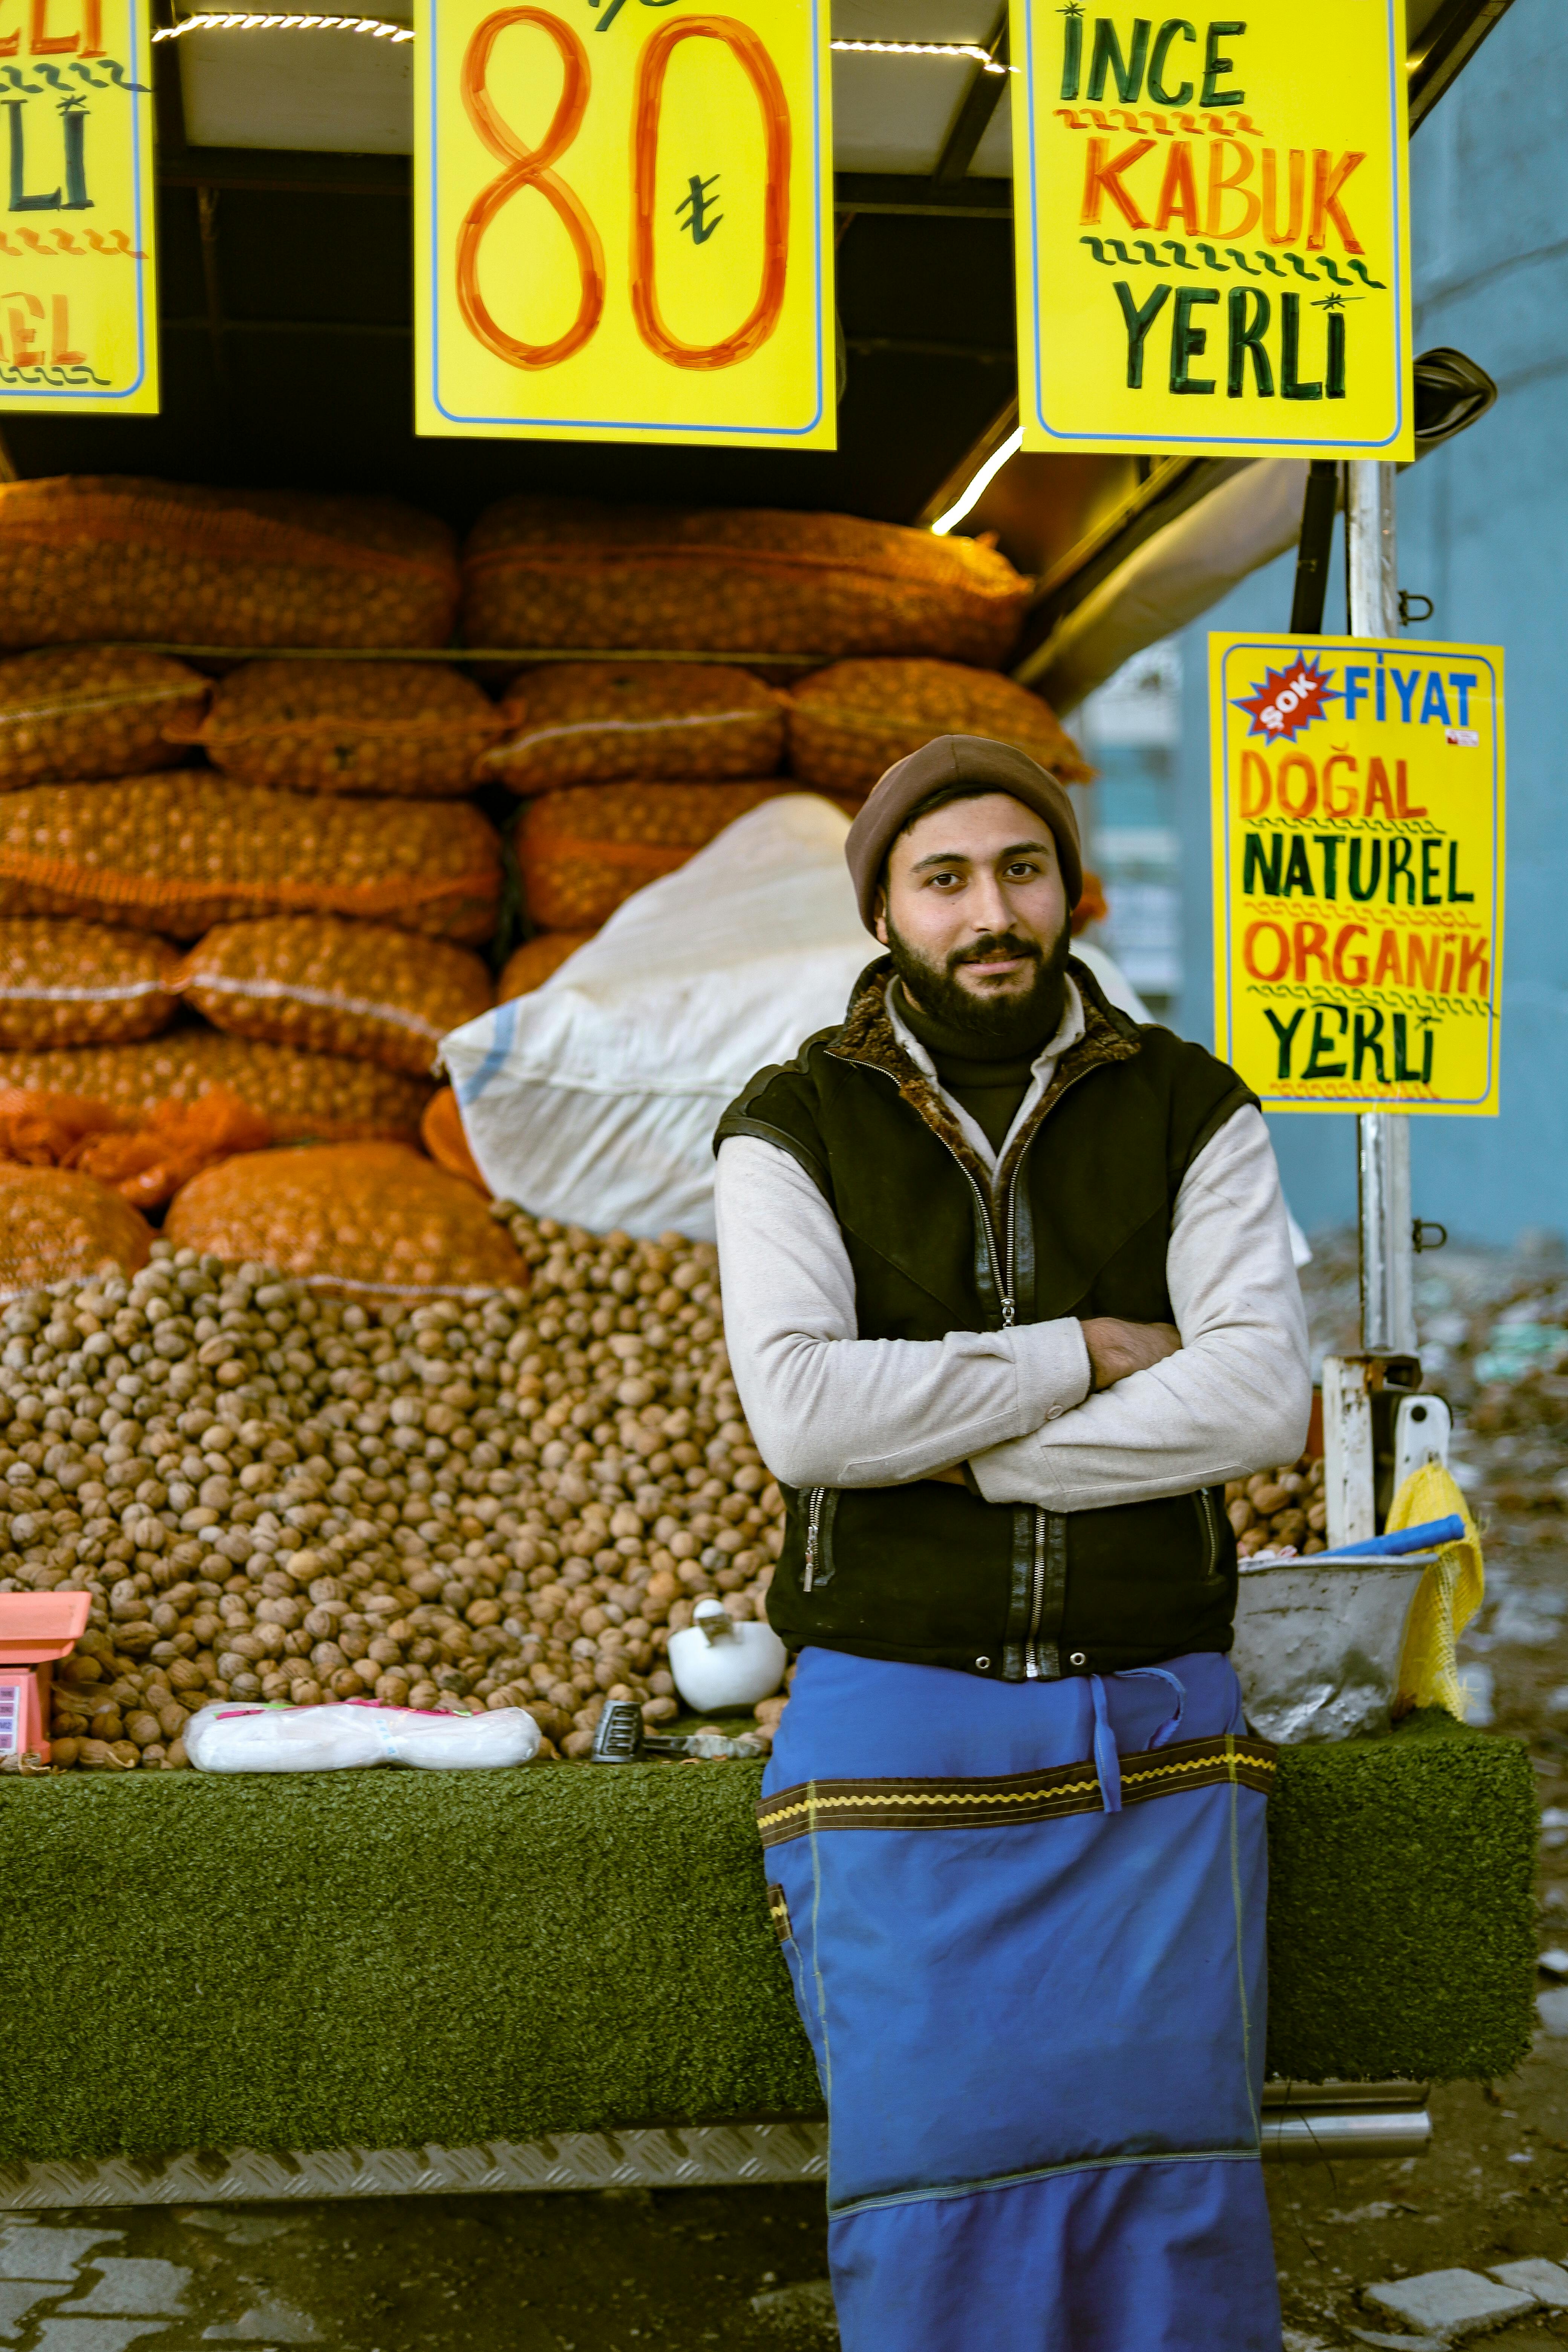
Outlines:
{"label": "yellow hanging sign reading \u0130NCE KABUK YERL\u0130", "polygon": [[1011,0],[1025,449],[1408,459],[1403,0]]}

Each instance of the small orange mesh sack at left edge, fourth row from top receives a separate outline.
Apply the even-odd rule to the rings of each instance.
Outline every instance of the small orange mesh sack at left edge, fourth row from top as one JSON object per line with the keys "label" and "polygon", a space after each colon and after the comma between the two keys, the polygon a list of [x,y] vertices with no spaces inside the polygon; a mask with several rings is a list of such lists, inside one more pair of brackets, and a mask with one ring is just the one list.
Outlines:
{"label": "small orange mesh sack at left edge, fourth row from top", "polygon": [[179,950],[106,922],[0,915],[0,1044],[153,1037],[179,1011]]}

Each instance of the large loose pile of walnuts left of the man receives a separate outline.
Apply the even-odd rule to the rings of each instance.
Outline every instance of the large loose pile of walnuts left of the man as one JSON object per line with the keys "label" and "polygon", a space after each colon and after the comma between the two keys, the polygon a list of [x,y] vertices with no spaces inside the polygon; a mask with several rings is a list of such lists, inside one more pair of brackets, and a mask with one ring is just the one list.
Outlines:
{"label": "large loose pile of walnuts left of the man", "polygon": [[0,1590],[87,1590],[54,1762],[181,1766],[209,1700],[677,1712],[670,1632],[762,1613],[783,1503],[717,1251],[498,1207],[529,1291],[346,1305],[153,1244],[0,1312]]}

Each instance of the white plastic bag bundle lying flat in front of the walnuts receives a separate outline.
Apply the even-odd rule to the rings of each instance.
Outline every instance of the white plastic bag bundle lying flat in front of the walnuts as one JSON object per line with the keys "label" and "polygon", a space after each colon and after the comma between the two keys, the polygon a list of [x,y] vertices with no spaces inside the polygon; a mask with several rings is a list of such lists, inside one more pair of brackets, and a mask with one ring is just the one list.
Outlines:
{"label": "white plastic bag bundle lying flat in front of the walnuts", "polygon": [[524,1708],[440,1715],[343,1700],[324,1708],[244,1708],[223,1700],[186,1724],[197,1771],[348,1771],[414,1764],[425,1771],[496,1771],[538,1752]]}

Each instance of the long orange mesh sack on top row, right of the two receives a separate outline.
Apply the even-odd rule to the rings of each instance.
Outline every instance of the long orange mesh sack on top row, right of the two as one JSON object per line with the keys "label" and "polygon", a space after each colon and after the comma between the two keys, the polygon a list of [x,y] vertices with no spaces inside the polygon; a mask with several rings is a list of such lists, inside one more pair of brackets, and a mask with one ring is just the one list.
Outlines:
{"label": "long orange mesh sack on top row, right of the two", "polygon": [[463,550],[468,644],[999,663],[1030,583],[978,539],[856,515],[503,499]]}

